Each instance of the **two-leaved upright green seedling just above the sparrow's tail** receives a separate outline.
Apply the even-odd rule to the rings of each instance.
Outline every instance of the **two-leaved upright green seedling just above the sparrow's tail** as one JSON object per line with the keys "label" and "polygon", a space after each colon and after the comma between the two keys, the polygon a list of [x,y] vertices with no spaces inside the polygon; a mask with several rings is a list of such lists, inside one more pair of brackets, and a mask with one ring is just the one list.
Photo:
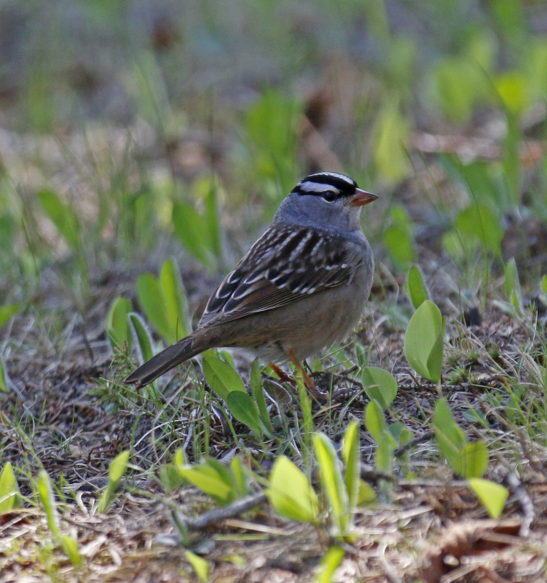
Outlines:
{"label": "two-leaved upright green seedling just above the sparrow's tail", "polygon": [[164,262],[159,278],[142,273],[137,294],[146,318],[167,342],[173,344],[190,333],[186,293],[173,259]]}

